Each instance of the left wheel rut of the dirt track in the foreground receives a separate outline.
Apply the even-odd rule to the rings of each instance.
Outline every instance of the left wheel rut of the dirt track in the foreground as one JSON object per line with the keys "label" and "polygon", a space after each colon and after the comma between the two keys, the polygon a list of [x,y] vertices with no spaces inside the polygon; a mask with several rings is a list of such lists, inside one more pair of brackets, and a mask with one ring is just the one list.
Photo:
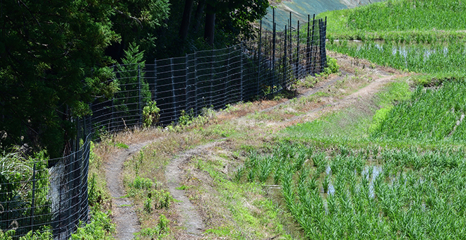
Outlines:
{"label": "left wheel rut of the dirt track in the foreground", "polygon": [[153,143],[130,145],[128,149],[122,150],[115,155],[113,161],[107,162],[105,166],[105,178],[107,179],[107,188],[112,196],[112,214],[113,221],[117,227],[117,239],[133,239],[134,233],[139,232],[140,226],[138,217],[131,199],[125,197],[126,191],[123,186],[123,164],[133,153],[138,152],[145,145]]}

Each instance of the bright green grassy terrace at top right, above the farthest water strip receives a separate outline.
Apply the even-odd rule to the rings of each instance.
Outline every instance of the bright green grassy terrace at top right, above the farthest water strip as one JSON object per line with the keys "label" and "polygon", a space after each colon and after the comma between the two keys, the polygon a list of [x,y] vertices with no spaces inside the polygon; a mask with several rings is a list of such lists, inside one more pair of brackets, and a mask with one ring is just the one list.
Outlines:
{"label": "bright green grassy terrace at top right, above the farthest water strip", "polygon": [[[383,1],[366,6],[328,11],[329,40],[388,40],[444,42],[465,38],[465,4],[453,0]],[[426,20],[429,19],[429,20]]]}

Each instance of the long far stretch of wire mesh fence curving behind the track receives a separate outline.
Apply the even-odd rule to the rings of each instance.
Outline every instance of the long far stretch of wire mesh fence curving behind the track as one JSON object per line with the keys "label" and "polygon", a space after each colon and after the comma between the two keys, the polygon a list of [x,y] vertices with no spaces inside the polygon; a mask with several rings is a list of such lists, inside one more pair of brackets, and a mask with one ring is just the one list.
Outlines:
{"label": "long far stretch of wire mesh fence curving behind the track", "polygon": [[259,25],[256,38],[225,49],[115,66],[121,91],[112,100],[92,104],[92,127],[112,132],[140,126],[150,101],[157,102],[158,124],[165,126],[183,114],[196,116],[205,108],[271,95],[320,73],[326,64],[326,20],[308,20],[274,23],[272,31]]}

